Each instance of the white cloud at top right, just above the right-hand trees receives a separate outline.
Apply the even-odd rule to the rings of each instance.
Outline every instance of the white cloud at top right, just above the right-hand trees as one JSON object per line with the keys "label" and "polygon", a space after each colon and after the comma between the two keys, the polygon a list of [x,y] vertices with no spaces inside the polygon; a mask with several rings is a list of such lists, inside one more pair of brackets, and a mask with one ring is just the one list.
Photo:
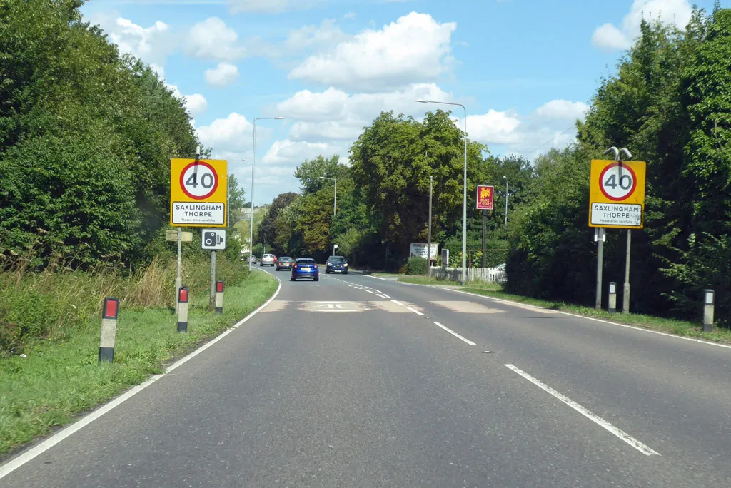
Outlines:
{"label": "white cloud at top right, just above the right-hand trees", "polygon": [[629,49],[640,35],[640,23],[656,19],[666,25],[675,24],[685,28],[692,15],[688,0],[635,0],[629,13],[624,16],[621,28],[605,23],[596,28],[591,36],[591,44],[601,50],[613,51]]}

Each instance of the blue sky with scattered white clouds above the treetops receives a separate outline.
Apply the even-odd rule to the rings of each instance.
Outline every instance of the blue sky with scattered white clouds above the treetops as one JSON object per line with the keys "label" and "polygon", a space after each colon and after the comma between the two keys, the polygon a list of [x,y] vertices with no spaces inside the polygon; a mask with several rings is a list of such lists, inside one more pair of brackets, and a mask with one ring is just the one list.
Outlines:
{"label": "blue sky with scattered white clouds above the treetops", "polygon": [[[725,2],[724,2],[725,3]],[[697,0],[711,11],[713,0]],[[466,106],[471,140],[534,159],[575,137],[602,77],[687,0],[91,0],[85,20],[186,97],[213,159],[254,205],[299,191],[305,159],[339,155],[381,112]],[[283,120],[270,120],[276,116]],[[269,119],[269,120],[268,120]],[[193,157],[194,155],[190,155]]]}

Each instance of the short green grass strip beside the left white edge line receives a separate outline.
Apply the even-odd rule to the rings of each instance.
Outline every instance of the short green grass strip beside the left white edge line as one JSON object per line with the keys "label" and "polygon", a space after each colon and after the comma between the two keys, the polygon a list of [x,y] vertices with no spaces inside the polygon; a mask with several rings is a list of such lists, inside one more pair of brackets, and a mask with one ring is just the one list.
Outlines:
{"label": "short green grass strip beside the left white edge line", "polygon": [[188,332],[178,334],[169,308],[121,309],[112,365],[98,365],[99,319],[64,340],[34,340],[27,358],[0,360],[0,454],[72,422],[77,414],[163,373],[165,365],[219,335],[276,290],[270,275],[254,272],[224,294],[224,313],[208,312],[208,296],[192,296]]}

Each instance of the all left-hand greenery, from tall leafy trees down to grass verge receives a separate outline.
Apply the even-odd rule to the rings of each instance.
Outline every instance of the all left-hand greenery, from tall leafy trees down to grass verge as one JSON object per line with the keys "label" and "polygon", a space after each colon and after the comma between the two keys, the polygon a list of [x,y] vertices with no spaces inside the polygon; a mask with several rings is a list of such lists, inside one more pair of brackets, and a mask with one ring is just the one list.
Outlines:
{"label": "all left-hand greenery, from tall leafy trees down to grass verge", "polygon": [[[202,145],[177,88],[83,23],[81,4],[0,1],[0,454],[162,372],[276,289],[240,261],[230,175],[224,314],[208,311],[200,230],[183,229],[192,307],[177,333],[170,159]],[[120,313],[115,361],[98,365],[105,297]]]}

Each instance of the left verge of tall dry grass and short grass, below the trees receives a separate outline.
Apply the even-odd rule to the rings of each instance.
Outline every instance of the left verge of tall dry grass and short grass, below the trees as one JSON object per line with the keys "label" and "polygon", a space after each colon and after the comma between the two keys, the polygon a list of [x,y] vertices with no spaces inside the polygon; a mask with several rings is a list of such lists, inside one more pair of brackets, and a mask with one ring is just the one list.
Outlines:
{"label": "left verge of tall dry grass and short grass, below the trees", "polygon": [[[243,262],[219,259],[216,266],[227,283],[222,315],[208,311],[208,263],[183,263],[191,303],[182,334],[174,313],[174,262],[154,262],[126,278],[105,270],[0,275],[0,310],[11,314],[1,323],[15,324],[10,335],[6,330],[0,357],[0,455],[162,373],[276,290],[276,279],[262,272],[249,276]],[[120,312],[114,362],[99,365],[105,296],[120,299]]]}

